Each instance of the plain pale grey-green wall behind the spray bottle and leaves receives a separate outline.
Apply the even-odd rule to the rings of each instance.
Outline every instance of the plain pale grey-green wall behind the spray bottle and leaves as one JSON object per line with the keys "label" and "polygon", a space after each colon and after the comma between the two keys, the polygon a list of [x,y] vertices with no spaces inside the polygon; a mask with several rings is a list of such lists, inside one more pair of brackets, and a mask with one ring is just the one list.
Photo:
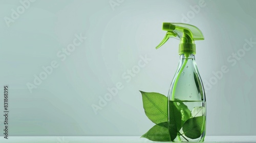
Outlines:
{"label": "plain pale grey-green wall behind the spray bottle and leaves", "polygon": [[[196,41],[196,59],[205,84],[212,72],[228,68],[207,87],[207,135],[256,135],[256,44],[236,64],[227,60],[243,52],[246,39],[256,41],[256,1],[205,1],[197,12],[191,7],[200,1],[113,2],[114,9],[108,0],[37,0],[8,27],[4,17],[21,4],[0,1],[0,85],[1,94],[9,85],[10,135],[145,133],[154,124],[144,114],[139,90],[167,95],[179,60],[176,39],[155,49],[165,35],[162,22],[201,29],[205,40]],[[80,33],[87,39],[62,62],[56,53]],[[126,82],[122,74],[145,55],[151,60]],[[26,84],[53,60],[59,66],[30,93]],[[118,95],[95,114],[92,105],[118,82]],[[0,101],[2,114],[3,96]],[[1,132],[3,120],[1,115]]]}

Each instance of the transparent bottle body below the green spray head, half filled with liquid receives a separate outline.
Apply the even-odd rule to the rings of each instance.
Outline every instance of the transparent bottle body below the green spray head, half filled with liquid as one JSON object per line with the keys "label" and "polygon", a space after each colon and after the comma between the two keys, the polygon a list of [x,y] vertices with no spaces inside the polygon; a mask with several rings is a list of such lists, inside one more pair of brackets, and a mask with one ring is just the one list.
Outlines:
{"label": "transparent bottle body below the green spray head, half filled with liquid", "polygon": [[[181,142],[202,142],[205,137],[205,127],[206,127],[206,99],[205,91],[199,71],[197,68],[195,55],[180,55],[180,61],[178,69],[176,71],[175,77],[170,85],[168,93],[168,128],[170,134],[174,134],[173,120],[179,120],[179,117],[174,118],[173,112],[170,111],[173,109],[170,108],[170,104],[175,105],[181,115],[180,120],[181,124],[177,124],[177,136],[173,141]],[[190,113],[189,113],[190,112]],[[184,117],[185,116],[185,117]],[[200,124],[202,129],[200,130],[200,136],[192,136],[186,134],[193,132],[195,129],[190,131],[183,130],[184,124],[187,124],[186,121],[189,118],[203,116],[203,123]],[[190,120],[191,121],[191,120]],[[179,123],[180,121],[177,121]],[[176,122],[175,122],[176,123]],[[189,122],[190,123],[190,122]],[[195,123],[196,124],[196,123]],[[183,126],[184,125],[184,126]],[[184,128],[185,129],[185,128]],[[176,134],[175,134],[176,135]],[[197,138],[195,138],[197,137]],[[174,138],[174,137],[173,137]]]}

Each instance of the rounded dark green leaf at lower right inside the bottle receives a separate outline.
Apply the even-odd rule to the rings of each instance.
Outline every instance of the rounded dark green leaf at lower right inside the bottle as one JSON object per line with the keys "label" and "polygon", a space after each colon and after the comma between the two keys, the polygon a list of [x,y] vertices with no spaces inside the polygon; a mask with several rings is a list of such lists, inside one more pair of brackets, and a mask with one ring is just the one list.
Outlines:
{"label": "rounded dark green leaf at lower right inside the bottle", "polygon": [[200,137],[204,131],[205,116],[197,116],[189,118],[183,125],[184,134],[191,138],[196,139]]}

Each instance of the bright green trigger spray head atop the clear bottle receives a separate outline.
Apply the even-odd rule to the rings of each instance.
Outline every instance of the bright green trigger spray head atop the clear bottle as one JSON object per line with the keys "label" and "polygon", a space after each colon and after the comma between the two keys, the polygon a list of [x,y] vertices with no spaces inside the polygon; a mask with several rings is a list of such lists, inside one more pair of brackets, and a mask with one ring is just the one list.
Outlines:
{"label": "bright green trigger spray head atop the clear bottle", "polygon": [[195,40],[204,40],[200,29],[186,23],[163,22],[163,30],[167,31],[167,33],[156,49],[162,46],[169,38],[178,38],[180,39],[179,55],[196,54]]}

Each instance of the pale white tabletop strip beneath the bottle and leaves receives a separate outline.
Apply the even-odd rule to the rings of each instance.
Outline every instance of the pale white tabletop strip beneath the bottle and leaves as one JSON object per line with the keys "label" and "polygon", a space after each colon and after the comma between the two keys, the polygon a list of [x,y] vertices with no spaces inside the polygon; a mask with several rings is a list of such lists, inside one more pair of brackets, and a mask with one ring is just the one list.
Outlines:
{"label": "pale white tabletop strip beneath the bottle and leaves", "polygon": [[[0,142],[47,142],[47,143],[84,143],[84,142],[155,142],[140,136],[11,136],[5,139],[3,136]],[[204,142],[256,142],[256,136],[206,136]]]}

